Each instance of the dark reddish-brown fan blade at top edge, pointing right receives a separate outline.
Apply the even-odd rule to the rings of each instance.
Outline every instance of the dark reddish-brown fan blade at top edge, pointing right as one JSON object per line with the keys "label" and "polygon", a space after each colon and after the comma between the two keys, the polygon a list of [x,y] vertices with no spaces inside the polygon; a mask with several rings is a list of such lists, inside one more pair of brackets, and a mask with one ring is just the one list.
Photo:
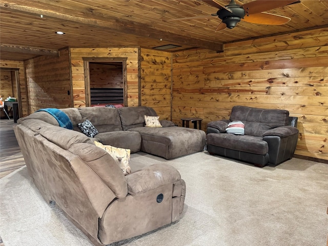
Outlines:
{"label": "dark reddish-brown fan blade at top edge, pointing right", "polygon": [[278,7],[283,7],[286,5],[293,4],[297,1],[295,0],[257,0],[247,4],[242,5],[245,10],[245,14],[255,14],[263,11],[268,11]]}

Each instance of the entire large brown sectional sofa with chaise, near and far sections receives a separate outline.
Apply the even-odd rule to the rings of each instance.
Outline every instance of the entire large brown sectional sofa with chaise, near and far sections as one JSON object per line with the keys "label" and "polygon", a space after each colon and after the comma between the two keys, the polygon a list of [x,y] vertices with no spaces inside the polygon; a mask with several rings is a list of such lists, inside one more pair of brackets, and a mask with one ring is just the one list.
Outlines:
{"label": "entire large brown sectional sofa with chaise, near and far sections", "polygon": [[[156,115],[147,107],[62,111],[76,131],[59,127],[55,117],[42,111],[20,118],[14,127],[28,172],[46,201],[55,201],[95,245],[131,238],[179,219],[186,185],[175,168],[153,164],[125,176],[93,140],[169,159],[203,150],[203,131],[144,127],[144,115]],[[85,119],[99,132],[93,139],[77,127]],[[172,125],[167,120],[161,123]]]}

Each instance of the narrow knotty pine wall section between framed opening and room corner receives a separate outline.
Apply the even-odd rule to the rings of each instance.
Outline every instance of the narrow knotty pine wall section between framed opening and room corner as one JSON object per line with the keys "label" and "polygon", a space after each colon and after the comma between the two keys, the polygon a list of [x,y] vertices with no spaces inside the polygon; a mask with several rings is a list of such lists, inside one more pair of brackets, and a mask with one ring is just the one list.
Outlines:
{"label": "narrow knotty pine wall section between framed opening and room corner", "polygon": [[172,53],[141,49],[141,105],[171,120]]}

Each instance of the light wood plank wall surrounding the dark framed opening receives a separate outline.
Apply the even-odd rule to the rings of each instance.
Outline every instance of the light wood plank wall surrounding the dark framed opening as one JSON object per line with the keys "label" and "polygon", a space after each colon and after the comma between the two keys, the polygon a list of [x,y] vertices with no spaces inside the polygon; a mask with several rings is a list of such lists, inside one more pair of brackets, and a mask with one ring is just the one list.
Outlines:
{"label": "light wood plank wall surrounding the dark framed opening", "polygon": [[127,57],[128,106],[138,106],[138,55],[139,48],[70,48],[73,105],[86,106],[83,57]]}

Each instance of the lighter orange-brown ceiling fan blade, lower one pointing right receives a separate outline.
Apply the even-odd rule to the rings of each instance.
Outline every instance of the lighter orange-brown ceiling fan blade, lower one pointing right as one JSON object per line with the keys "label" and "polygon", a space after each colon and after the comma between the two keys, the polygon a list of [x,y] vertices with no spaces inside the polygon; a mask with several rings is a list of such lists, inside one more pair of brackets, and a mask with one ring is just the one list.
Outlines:
{"label": "lighter orange-brown ceiling fan blade, lower one pointing right", "polygon": [[255,24],[262,24],[262,25],[283,25],[288,23],[291,18],[277,15],[277,14],[270,14],[270,13],[256,13],[245,15],[243,19],[244,22],[250,22]]}

